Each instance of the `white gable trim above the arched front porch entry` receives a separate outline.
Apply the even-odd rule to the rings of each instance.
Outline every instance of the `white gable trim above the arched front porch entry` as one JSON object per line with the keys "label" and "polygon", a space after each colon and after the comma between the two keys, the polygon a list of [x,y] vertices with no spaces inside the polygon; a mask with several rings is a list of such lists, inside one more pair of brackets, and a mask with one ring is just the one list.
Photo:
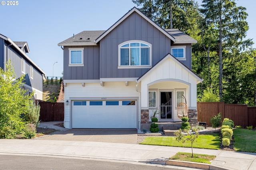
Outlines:
{"label": "white gable trim above the arched front porch entry", "polygon": [[[189,72],[194,78],[196,78],[198,81],[202,82],[203,80],[197,76],[194,72],[192,72],[190,69],[188,69],[186,66],[184,66],[182,63],[180,63],[175,57],[173,57],[172,55],[168,54],[163,60],[161,60],[159,63],[157,63],[154,67],[157,68],[160,64],[164,63],[164,61],[166,61],[166,59],[171,58],[173,59],[173,61],[175,63],[177,63],[179,66],[181,66],[182,68],[184,68],[184,70],[186,70],[187,72]],[[146,74],[144,74],[138,81],[137,84],[143,80],[148,74],[150,74],[154,69],[149,70]]]}

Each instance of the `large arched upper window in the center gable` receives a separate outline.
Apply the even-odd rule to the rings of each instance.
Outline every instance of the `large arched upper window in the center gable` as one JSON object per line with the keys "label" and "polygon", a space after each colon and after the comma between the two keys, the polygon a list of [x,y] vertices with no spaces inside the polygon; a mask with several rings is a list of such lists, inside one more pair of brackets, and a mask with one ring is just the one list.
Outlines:
{"label": "large arched upper window in the center gable", "polygon": [[[126,41],[118,45],[119,68],[151,66],[151,44],[145,41]],[[128,67],[126,67],[128,66]]]}

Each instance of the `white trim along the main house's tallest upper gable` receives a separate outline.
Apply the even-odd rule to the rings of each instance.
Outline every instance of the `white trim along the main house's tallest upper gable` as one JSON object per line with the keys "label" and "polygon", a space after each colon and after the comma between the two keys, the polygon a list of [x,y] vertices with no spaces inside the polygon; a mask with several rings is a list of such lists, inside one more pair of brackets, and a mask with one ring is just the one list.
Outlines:
{"label": "white trim along the main house's tallest upper gable", "polygon": [[140,16],[142,16],[142,18],[144,18],[146,21],[148,21],[149,23],[151,23],[152,25],[154,25],[159,31],[161,31],[164,35],[166,35],[168,38],[170,38],[172,41],[176,41],[174,37],[172,37],[172,35],[170,35],[168,32],[166,32],[164,29],[162,29],[159,25],[157,25],[156,23],[154,23],[154,21],[150,20],[147,16],[145,16],[144,14],[142,14],[142,12],[140,12],[137,8],[132,8],[126,15],[124,15],[120,20],[118,20],[116,23],[114,23],[114,25],[112,25],[112,27],[110,27],[107,31],[105,31],[102,35],[100,35],[100,37],[98,37],[95,40],[95,43],[98,43],[103,37],[105,37],[108,33],[110,33],[110,31],[112,31],[117,25],[119,25],[122,21],[124,21],[128,16],[130,16],[130,14],[132,14],[133,12],[137,12]]}

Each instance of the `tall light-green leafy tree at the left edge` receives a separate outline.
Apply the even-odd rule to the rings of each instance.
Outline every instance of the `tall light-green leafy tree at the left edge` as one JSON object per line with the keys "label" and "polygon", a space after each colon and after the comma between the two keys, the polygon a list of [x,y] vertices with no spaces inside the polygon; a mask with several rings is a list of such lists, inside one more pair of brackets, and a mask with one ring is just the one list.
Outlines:
{"label": "tall light-green leafy tree at the left edge", "polygon": [[31,104],[31,96],[23,88],[24,76],[16,79],[11,62],[0,68],[0,138],[12,139],[26,132],[23,116]]}

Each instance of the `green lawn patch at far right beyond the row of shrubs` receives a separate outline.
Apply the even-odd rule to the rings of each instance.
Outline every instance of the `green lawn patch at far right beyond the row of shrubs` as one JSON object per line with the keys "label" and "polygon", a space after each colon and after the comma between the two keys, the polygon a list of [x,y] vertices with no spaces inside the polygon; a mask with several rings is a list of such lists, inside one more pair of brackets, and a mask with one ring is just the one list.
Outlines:
{"label": "green lawn patch at far right beyond the row of shrubs", "polygon": [[234,129],[234,149],[240,152],[256,152],[256,131]]}

